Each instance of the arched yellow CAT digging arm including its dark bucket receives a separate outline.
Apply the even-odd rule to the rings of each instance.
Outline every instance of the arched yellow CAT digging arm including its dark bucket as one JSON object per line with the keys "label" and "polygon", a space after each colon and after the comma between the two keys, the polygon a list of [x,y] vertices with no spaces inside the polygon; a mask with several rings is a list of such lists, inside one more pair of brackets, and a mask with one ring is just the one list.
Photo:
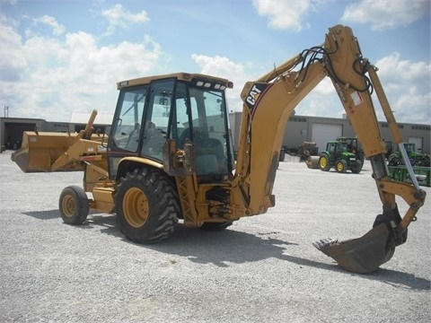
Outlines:
{"label": "arched yellow CAT digging arm including its dark bucket", "polygon": [[[384,159],[386,146],[371,98],[373,91],[395,141],[400,144],[402,138],[376,68],[362,57],[350,28],[341,25],[330,28],[322,46],[303,50],[257,81],[245,84],[236,180],[249,203],[249,214],[265,213],[275,205],[272,188],[286,122],[296,105],[325,76],[330,77],[365,157],[370,159],[383,214],[377,216],[374,229],[361,238],[321,240],[315,246],[347,270],[369,273],[388,261],[395,247],[407,239],[407,227],[416,219],[426,193],[417,184],[395,182],[389,177]],[[395,196],[401,196],[409,205],[402,219]]]}

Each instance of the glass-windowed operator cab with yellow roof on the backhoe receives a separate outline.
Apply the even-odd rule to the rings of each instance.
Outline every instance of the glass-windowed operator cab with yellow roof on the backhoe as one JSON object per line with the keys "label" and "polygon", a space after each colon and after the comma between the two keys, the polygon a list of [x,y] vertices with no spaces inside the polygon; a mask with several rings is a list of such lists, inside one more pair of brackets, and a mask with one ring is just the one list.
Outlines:
{"label": "glass-windowed operator cab with yellow roof on the backhoe", "polygon": [[233,145],[226,107],[227,80],[202,74],[169,74],[118,83],[119,100],[110,132],[108,160],[115,179],[122,158],[145,158],[162,167],[163,144],[194,144],[199,182],[227,179]]}

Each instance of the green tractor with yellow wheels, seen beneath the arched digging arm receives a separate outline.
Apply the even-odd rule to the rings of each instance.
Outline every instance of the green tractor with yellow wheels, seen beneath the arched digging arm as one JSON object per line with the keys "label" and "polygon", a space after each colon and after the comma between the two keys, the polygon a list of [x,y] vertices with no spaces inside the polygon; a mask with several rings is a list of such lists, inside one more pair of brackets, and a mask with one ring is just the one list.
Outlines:
{"label": "green tractor with yellow wheels, seen beneath the arched digging arm", "polygon": [[337,172],[344,173],[351,170],[357,174],[362,170],[364,165],[360,159],[357,158],[356,153],[349,151],[347,142],[345,141],[330,141],[326,144],[326,151],[322,152],[319,157],[319,168],[322,171],[329,171],[332,167]]}

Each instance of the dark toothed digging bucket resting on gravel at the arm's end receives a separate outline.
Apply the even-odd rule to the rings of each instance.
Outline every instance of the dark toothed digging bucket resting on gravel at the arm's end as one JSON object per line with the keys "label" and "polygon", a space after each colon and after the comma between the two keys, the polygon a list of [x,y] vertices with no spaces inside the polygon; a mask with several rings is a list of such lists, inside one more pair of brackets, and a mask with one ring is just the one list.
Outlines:
{"label": "dark toothed digging bucket resting on gravel at the arm's end", "polygon": [[372,273],[392,258],[396,246],[407,240],[407,229],[402,230],[400,221],[395,207],[377,215],[373,229],[360,238],[344,241],[324,239],[313,245],[350,272]]}

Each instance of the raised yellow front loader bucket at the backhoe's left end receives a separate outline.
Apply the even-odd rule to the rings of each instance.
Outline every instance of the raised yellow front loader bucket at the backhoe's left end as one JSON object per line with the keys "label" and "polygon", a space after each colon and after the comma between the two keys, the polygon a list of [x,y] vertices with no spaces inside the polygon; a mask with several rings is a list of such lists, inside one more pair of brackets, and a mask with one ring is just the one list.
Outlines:
{"label": "raised yellow front loader bucket at the backhoe's left end", "polygon": [[[24,131],[22,147],[12,153],[11,159],[24,172],[52,171],[51,165],[75,143],[77,135]],[[56,169],[56,171],[60,170],[84,170],[84,168],[81,163],[76,162]]]}

